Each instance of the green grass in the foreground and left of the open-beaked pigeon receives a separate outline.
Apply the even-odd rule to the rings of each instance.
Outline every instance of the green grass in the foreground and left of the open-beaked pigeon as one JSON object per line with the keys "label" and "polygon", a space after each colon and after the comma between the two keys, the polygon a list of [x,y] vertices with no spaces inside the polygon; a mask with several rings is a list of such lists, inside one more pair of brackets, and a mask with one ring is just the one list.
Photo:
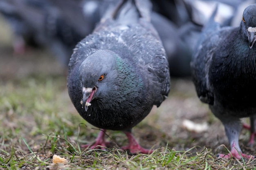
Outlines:
{"label": "green grass in the foreground and left of the open-beaked pigeon", "polygon": [[[65,76],[45,75],[0,84],[0,170],[256,170],[255,161],[215,159],[211,149],[200,147],[184,151],[160,143],[151,155],[130,155],[115,146],[84,150],[79,144],[92,141],[98,131],[76,113],[65,81]],[[146,122],[138,126],[147,128]],[[119,132],[111,134],[126,142]],[[67,159],[67,164],[53,165],[54,154]]]}

